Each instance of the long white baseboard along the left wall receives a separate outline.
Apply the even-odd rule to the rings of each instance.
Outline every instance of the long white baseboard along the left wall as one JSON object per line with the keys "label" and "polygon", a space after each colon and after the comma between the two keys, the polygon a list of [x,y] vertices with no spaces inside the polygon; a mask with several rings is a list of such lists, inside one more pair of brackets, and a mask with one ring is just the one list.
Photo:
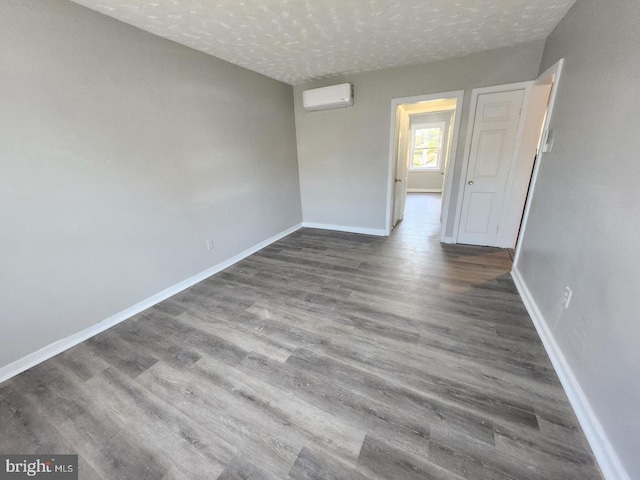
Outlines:
{"label": "long white baseboard along the left wall", "polygon": [[15,362],[10,363],[9,365],[6,365],[0,368],[0,383],[6,380],[9,380],[11,377],[18,375],[19,373],[22,373],[25,370],[28,370],[29,368],[34,367],[39,363],[42,363],[45,360],[48,360],[49,358],[54,357],[59,353],[62,353],[65,350],[68,350],[69,348],[76,346],[81,342],[84,342],[85,340],[99,334],[100,332],[104,332],[105,330],[113,327],[114,325],[117,325],[118,323],[123,322],[124,320],[131,318],[134,315],[137,315],[138,313],[146,310],[147,308],[153,307],[157,303],[160,303],[163,300],[166,300],[167,298],[172,297],[176,293],[186,290],[187,288],[195,285],[196,283],[201,282],[206,278],[209,278],[211,275],[215,275],[216,273],[224,270],[225,268],[230,267],[234,263],[237,263],[240,260],[248,257],[249,255],[257,252],[258,250],[261,250],[264,247],[271,245],[273,242],[276,242],[281,238],[284,238],[287,235],[290,235],[291,233],[299,230],[300,228],[302,228],[302,224],[294,225],[293,227],[288,228],[287,230],[280,232],[277,235],[274,235],[273,237],[268,238],[265,241],[260,242],[257,245],[254,245],[253,247],[248,248],[243,252],[240,252],[234,257],[231,257],[230,259],[225,260],[224,262],[218,263],[217,265],[214,265],[213,267],[208,268],[203,272],[200,272],[194,275],[193,277],[187,278],[186,280],[183,280],[180,283],[177,283],[169,288],[166,288],[161,292],[158,292],[155,295],[149,298],[146,298],[141,302],[138,302],[135,305],[132,305],[131,307],[125,310],[122,310],[121,312],[118,312],[115,315],[112,315],[109,318],[106,318],[100,321],[99,323],[96,323],[95,325],[90,326],[89,328],[85,328],[84,330],[74,333],[69,337],[53,342],[47,345],[46,347],[41,348],[40,350],[30,353],[29,355],[19,360],[16,360]]}

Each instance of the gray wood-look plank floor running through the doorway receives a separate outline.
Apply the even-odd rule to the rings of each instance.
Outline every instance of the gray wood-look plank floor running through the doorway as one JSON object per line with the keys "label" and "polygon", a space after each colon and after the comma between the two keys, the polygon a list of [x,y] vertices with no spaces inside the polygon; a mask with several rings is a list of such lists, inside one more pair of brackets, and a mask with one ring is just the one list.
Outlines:
{"label": "gray wood-look plank floor running through the doorway", "polygon": [[506,251],[303,229],[0,386],[83,479],[599,479]]}

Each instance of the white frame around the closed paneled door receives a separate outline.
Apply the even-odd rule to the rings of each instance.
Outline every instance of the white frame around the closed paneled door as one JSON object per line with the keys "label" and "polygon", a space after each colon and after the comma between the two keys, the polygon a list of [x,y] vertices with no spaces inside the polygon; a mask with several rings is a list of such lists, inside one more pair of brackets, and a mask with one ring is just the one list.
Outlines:
{"label": "white frame around the closed paneled door", "polygon": [[[456,212],[453,220],[453,239],[454,243],[458,242],[458,234],[460,233],[460,217],[462,215],[462,198],[464,196],[464,186],[467,179],[467,168],[469,168],[469,157],[471,156],[471,140],[473,137],[473,127],[476,119],[476,108],[478,105],[478,96],[487,94],[487,93],[500,93],[500,92],[510,92],[513,90],[524,90],[524,100],[522,106],[522,114],[520,115],[520,122],[518,125],[518,133],[516,135],[516,143],[514,147],[514,158],[517,156],[517,153],[520,150],[520,141],[522,139],[522,133],[524,132],[524,121],[522,120],[526,116],[527,104],[529,102],[529,96],[531,94],[531,86],[533,85],[533,81],[528,82],[518,82],[518,83],[509,83],[506,85],[494,85],[492,87],[482,87],[482,88],[474,88],[471,91],[471,103],[469,110],[469,123],[467,125],[467,136],[465,138],[464,145],[464,156],[462,157],[462,168],[460,169],[460,178],[458,183],[458,197],[456,199]],[[510,166],[508,178],[512,177],[512,168],[513,161]],[[509,187],[507,187],[509,190]],[[506,194],[507,192],[505,192]],[[504,203],[508,202],[509,199],[505,195]]]}

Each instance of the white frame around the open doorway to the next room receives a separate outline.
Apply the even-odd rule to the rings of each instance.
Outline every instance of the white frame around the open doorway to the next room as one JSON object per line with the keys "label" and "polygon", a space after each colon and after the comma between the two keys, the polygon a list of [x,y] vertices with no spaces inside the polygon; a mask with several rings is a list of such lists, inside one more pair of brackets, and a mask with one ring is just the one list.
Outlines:
{"label": "white frame around the open doorway to the next room", "polygon": [[453,123],[453,138],[451,142],[451,152],[449,154],[449,165],[445,171],[444,182],[442,185],[442,225],[440,231],[440,241],[445,241],[445,233],[447,231],[449,204],[451,202],[451,187],[453,186],[453,170],[455,167],[456,150],[458,147],[458,136],[460,133],[460,118],[462,113],[462,101],[464,99],[464,90],[455,90],[453,92],[432,93],[427,95],[417,95],[413,97],[394,98],[391,100],[391,122],[389,133],[389,169],[387,174],[387,219],[385,224],[386,235],[391,235],[391,222],[393,220],[393,192],[394,192],[394,168],[395,168],[395,133],[396,133],[396,110],[403,103],[418,103],[430,100],[440,99],[456,99],[455,119]]}

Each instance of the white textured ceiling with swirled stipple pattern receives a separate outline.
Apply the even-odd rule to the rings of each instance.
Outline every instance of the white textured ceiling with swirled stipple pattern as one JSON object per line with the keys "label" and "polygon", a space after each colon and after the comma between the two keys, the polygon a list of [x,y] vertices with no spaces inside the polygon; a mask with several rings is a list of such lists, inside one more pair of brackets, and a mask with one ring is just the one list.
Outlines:
{"label": "white textured ceiling with swirled stipple pattern", "polygon": [[545,38],[575,0],[73,0],[290,84]]}

